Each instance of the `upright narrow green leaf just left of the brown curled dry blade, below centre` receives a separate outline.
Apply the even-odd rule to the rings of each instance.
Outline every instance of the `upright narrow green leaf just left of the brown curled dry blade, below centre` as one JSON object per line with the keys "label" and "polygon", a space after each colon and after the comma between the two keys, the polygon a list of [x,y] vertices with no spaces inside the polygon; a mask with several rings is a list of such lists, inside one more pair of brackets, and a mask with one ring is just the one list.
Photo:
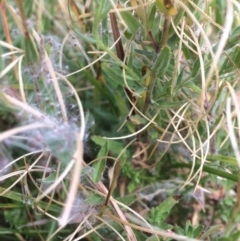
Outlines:
{"label": "upright narrow green leaf just left of the brown curled dry blade, below centre", "polygon": [[97,160],[94,164],[93,164],[93,168],[94,168],[94,172],[92,174],[92,180],[97,183],[100,181],[103,171],[105,170],[106,167],[106,156],[108,154],[108,150],[109,150],[109,144],[108,141],[106,141],[106,143],[101,147],[97,158],[98,157],[103,157],[100,160]]}

